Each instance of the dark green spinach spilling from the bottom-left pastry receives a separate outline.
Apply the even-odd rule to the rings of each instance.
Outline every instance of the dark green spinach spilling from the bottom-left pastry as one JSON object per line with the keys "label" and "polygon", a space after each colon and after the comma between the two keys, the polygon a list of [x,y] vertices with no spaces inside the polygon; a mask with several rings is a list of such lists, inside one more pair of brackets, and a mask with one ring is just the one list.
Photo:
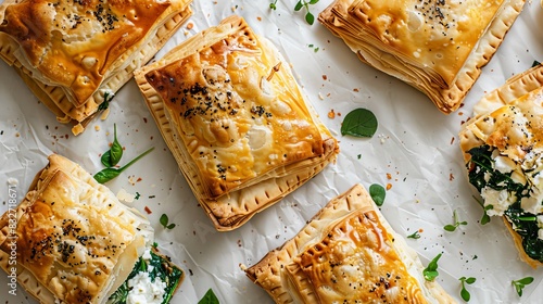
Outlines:
{"label": "dark green spinach spilling from the bottom-left pastry", "polygon": [[[149,266],[153,266],[151,271],[148,271]],[[149,277],[151,278],[152,282],[154,282],[156,278],[161,278],[161,280],[166,283],[166,290],[162,300],[162,304],[169,303],[169,300],[172,300],[172,296],[174,295],[174,292],[182,278],[182,270],[173,265],[168,257],[163,257],[151,251],[151,259],[144,259],[140,256],[138,263],[136,263],[136,265],[134,266],[132,271],[130,273],[130,275],[128,275],[128,278],[110,296],[108,303],[126,303],[128,292],[130,292],[128,280],[136,277],[138,273],[149,273]]]}

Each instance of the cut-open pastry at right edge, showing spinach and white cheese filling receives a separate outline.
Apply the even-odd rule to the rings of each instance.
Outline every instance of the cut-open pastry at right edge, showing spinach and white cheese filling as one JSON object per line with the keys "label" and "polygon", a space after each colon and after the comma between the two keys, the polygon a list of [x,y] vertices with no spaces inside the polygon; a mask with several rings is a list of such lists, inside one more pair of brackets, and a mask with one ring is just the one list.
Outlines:
{"label": "cut-open pastry at right edge, showing spinach and white cheese filling", "polygon": [[521,258],[543,263],[543,66],[488,93],[459,134],[469,182],[501,216]]}

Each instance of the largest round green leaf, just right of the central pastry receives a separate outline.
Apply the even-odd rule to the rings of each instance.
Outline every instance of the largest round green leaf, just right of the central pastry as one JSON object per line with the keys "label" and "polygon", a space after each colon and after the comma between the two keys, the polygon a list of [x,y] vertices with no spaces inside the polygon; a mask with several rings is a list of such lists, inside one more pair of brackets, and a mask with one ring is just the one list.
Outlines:
{"label": "largest round green leaf, just right of the central pastry", "polygon": [[346,114],[341,135],[372,137],[377,131],[377,117],[367,109],[356,109]]}

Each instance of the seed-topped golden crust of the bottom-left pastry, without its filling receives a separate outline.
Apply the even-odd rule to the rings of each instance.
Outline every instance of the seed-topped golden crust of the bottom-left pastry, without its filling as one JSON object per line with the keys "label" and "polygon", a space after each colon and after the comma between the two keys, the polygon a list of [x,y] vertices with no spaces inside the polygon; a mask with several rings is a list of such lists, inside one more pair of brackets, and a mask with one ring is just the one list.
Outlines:
{"label": "seed-topped golden crust of the bottom-left pastry, without its filling", "polygon": [[0,266],[41,303],[105,303],[153,237],[138,211],[56,154],[0,231]]}

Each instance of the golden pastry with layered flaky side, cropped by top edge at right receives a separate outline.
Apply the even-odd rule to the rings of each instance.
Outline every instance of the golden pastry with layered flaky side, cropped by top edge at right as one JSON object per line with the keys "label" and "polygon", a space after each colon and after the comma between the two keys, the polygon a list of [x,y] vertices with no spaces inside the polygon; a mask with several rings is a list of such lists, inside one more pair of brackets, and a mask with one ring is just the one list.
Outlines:
{"label": "golden pastry with layered flaky side, cropped by top edge at right", "polygon": [[458,109],[525,0],[336,0],[318,20],[358,58]]}

